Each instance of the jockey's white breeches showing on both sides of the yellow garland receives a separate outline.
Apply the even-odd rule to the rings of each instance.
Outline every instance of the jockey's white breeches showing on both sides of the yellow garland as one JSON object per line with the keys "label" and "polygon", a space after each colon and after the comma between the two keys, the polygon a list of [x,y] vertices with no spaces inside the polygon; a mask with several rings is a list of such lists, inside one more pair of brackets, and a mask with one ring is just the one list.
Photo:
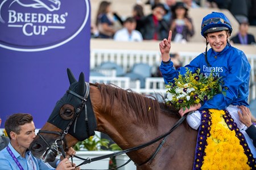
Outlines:
{"label": "jockey's white breeches showing on both sides of the yellow garland", "polygon": [[[251,138],[247,135],[246,129],[247,127],[240,121],[240,117],[238,115],[237,111],[241,111],[236,105],[229,105],[228,108],[226,108],[229,111],[229,114],[233,118],[234,122],[236,122],[237,127],[241,130],[241,132],[245,135],[246,142],[248,143],[251,153],[253,154],[254,158],[256,158],[256,150],[253,145],[253,141]],[[242,111],[241,111],[242,112]],[[187,116],[187,122],[188,125],[191,126],[193,129],[198,129],[201,124],[201,114],[199,111],[195,111],[192,114],[188,114]]]}

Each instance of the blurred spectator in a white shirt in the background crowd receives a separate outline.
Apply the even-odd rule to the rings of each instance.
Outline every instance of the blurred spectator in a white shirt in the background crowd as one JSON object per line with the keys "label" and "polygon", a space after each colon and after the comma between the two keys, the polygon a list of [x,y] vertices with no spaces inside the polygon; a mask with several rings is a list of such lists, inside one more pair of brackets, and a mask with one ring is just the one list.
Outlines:
{"label": "blurred spectator in a white shirt in the background crowd", "polygon": [[123,28],[115,32],[115,41],[142,41],[141,32],[135,30],[136,20],[134,18],[127,18],[123,23]]}

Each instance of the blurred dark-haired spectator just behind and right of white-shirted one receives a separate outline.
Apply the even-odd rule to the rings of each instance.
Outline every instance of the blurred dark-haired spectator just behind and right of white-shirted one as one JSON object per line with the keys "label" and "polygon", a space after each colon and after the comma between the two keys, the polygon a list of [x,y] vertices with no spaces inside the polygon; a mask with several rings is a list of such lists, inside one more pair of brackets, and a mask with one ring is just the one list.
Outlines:
{"label": "blurred dark-haired spectator just behind and right of white-shirted one", "polygon": [[143,27],[142,18],[144,17],[143,7],[139,4],[133,6],[133,18],[136,20],[136,30],[141,32]]}

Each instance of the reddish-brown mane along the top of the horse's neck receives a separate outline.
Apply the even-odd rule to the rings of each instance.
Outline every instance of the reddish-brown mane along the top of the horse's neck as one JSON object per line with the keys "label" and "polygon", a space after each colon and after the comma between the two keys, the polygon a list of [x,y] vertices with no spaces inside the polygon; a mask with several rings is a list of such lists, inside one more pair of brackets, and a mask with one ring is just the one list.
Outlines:
{"label": "reddish-brown mane along the top of the horse's neck", "polygon": [[[139,121],[148,122],[154,126],[157,125],[160,111],[173,116],[178,115],[174,108],[168,106],[166,103],[160,103],[154,96],[141,95],[130,89],[123,90],[122,88],[113,84],[95,83],[92,85],[96,86],[101,92],[104,111],[109,108],[109,106],[106,105],[108,95],[110,105],[114,105],[114,99],[117,99],[119,104],[125,108],[127,113],[134,113]],[[110,112],[113,113],[113,107],[111,107],[111,109],[112,110]]]}

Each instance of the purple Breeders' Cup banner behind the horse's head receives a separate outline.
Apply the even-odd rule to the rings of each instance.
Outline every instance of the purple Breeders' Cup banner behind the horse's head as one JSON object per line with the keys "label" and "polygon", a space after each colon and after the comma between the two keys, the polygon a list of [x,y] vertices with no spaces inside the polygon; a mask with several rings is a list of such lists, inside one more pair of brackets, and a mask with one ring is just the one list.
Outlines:
{"label": "purple Breeders' Cup banner behind the horse's head", "polygon": [[89,80],[89,0],[0,0],[0,114],[30,113],[42,128],[69,87]]}

